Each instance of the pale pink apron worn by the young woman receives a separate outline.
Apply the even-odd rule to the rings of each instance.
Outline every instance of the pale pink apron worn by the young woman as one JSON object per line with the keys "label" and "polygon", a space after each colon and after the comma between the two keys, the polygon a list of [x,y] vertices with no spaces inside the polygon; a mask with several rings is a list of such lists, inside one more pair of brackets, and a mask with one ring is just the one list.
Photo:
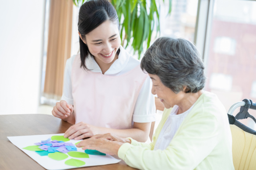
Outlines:
{"label": "pale pink apron worn by the young woman", "polygon": [[80,54],[77,54],[71,73],[76,123],[132,128],[134,106],[148,76],[140,65],[117,76],[85,71],[80,65]]}

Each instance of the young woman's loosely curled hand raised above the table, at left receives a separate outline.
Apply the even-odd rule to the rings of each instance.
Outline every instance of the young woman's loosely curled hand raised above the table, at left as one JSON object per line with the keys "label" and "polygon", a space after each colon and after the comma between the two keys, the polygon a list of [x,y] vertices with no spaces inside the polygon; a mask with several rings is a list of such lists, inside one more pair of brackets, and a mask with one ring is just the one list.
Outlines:
{"label": "young woman's loosely curled hand raised above the table, at left", "polygon": [[61,100],[60,102],[56,102],[56,106],[53,107],[52,114],[57,118],[66,119],[73,111],[73,105],[69,105],[65,100]]}

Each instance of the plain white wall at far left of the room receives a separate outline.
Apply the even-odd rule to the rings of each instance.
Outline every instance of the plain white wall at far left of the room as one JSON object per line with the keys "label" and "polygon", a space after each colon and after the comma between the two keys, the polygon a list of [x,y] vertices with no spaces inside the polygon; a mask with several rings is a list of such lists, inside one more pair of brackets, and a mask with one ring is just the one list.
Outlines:
{"label": "plain white wall at far left of the room", "polygon": [[37,113],[45,0],[0,5],[0,114]]}

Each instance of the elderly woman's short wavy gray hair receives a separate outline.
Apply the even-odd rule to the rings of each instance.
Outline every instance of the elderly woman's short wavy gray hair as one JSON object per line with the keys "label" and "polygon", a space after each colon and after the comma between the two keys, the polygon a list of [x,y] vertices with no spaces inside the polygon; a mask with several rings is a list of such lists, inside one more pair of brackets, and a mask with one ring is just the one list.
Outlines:
{"label": "elderly woman's short wavy gray hair", "polygon": [[173,92],[196,93],[205,85],[204,65],[196,46],[182,38],[161,37],[147,49],[140,67]]}

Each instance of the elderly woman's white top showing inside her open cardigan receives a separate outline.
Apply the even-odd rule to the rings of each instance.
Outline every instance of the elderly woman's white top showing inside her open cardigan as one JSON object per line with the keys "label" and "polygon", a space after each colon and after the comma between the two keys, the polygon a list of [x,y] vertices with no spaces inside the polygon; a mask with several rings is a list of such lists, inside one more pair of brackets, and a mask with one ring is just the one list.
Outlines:
{"label": "elderly woman's white top showing inside her open cardigan", "polygon": [[169,146],[173,136],[175,135],[175,133],[179,129],[179,126],[189,114],[193,106],[194,105],[192,105],[186,112],[183,112],[179,115],[177,115],[179,106],[173,106],[170,115],[168,116],[163,128],[161,129],[161,132],[154,146],[154,150],[165,150],[167,146]]}

